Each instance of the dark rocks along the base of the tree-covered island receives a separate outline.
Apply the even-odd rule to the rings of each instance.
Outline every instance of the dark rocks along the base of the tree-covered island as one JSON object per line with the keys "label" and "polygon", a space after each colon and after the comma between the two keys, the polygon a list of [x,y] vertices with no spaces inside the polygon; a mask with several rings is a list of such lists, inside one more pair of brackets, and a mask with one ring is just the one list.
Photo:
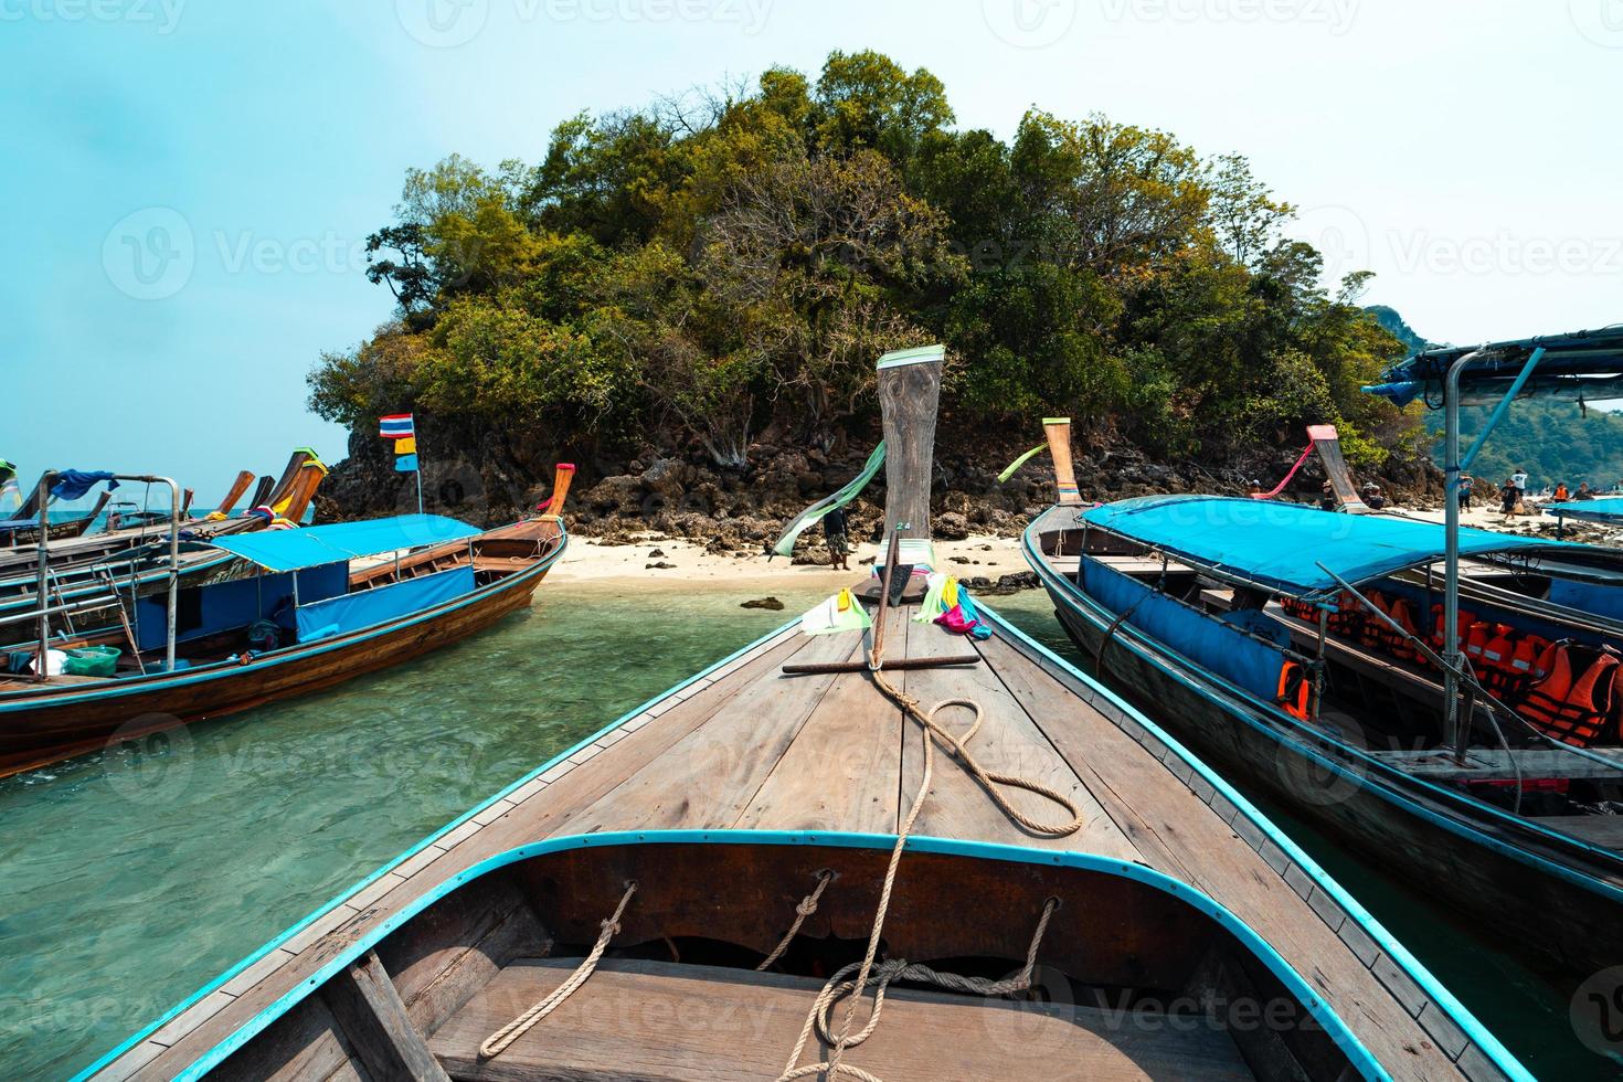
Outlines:
{"label": "dark rocks along the base of the tree-covered island", "polygon": [[[932,493],[935,535],[941,540],[1014,537],[1050,506],[1055,485],[1047,456],[1034,457],[1006,483],[997,480],[998,472],[1037,438],[1040,432],[1026,441],[945,436],[936,448]],[[573,459],[578,472],[568,516],[575,534],[605,545],[685,539],[709,553],[740,558],[758,556],[795,514],[855,477],[868,453],[867,446],[823,451],[761,441],[750,448],[747,466],[717,467],[701,448],[644,448],[620,457],[514,449],[497,446],[489,436],[451,446],[463,451],[438,457],[424,453],[427,511],[476,524],[513,521],[549,496],[553,457]],[[380,440],[357,433],[349,449],[351,456],[333,469],[321,488],[320,521],[415,509],[411,475],[391,472]],[[1180,492],[1240,495],[1250,477],[1272,483],[1294,459],[1295,453],[1266,449],[1230,456],[1220,464],[1157,462],[1131,444],[1078,446],[1076,477],[1087,500]],[[1430,462],[1407,461],[1389,472],[1375,477],[1388,493],[1407,506],[1440,506],[1441,475]],[[1319,483],[1316,461],[1311,461],[1287,495],[1311,500]],[[883,506],[881,472],[847,508],[854,540],[876,537]],[[828,553],[818,543],[803,543],[795,563],[828,563]]]}

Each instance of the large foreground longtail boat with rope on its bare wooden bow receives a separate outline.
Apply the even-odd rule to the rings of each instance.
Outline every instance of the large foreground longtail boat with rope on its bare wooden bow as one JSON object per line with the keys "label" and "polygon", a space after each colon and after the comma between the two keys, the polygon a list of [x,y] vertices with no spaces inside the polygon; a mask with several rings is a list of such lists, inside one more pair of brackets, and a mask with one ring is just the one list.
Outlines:
{"label": "large foreground longtail boat with rope on its bare wooden bow", "polygon": [[940,354],[888,360],[872,638],[698,673],[86,1077],[1527,1077],[1152,722],[915,620]]}

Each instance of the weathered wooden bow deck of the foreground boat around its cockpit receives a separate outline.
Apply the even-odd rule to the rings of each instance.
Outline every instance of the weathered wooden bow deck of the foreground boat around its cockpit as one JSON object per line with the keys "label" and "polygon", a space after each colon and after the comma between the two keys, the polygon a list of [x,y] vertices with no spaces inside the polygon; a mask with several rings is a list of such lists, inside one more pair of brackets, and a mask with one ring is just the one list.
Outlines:
{"label": "weathered wooden bow deck of the foreground boat around its cockpit", "polygon": [[[1157,733],[1001,625],[990,641],[972,642],[911,623],[912,612],[889,613],[888,659],[977,652],[982,663],[896,672],[891,680],[927,706],[977,698],[987,719],[971,751],[980,762],[1068,793],[1086,816],[1076,835],[1032,835],[938,754],[914,834],[1084,850],[1164,871],[1227,905],[1268,939],[1394,1077],[1503,1077],[1313,873]],[[919,725],[865,673],[779,673],[790,659],[850,660],[859,649],[855,636],[805,638],[790,626],[674,689],[430,839],[130,1046],[97,1077],[174,1076],[403,907],[529,842],[680,827],[894,834],[920,779]],[[943,719],[956,732],[969,723],[966,711],[945,711]],[[1063,818],[1027,793],[1011,800],[1034,818]],[[420,994],[427,993],[415,977],[401,986],[407,1009]],[[799,1017],[810,994],[797,988],[790,1014]],[[787,1046],[773,1043],[768,1051],[763,1063],[776,1067]],[[347,1056],[331,1032],[304,1048],[297,1063],[299,1077],[352,1077],[334,1074]],[[222,1074],[232,1076],[230,1061]]]}

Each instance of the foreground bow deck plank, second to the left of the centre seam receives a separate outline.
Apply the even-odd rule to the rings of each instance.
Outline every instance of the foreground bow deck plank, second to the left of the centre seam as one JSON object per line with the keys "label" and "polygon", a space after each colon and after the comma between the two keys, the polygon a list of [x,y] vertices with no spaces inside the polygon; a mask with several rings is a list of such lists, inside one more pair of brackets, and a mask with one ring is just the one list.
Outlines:
{"label": "foreground bow deck plank, second to the left of the centre seam", "polygon": [[[854,636],[824,634],[807,639],[794,657],[841,662],[857,657],[859,649]],[[834,680],[761,673],[659,761],[571,816],[563,829],[591,834],[730,826],[750,808]]]}

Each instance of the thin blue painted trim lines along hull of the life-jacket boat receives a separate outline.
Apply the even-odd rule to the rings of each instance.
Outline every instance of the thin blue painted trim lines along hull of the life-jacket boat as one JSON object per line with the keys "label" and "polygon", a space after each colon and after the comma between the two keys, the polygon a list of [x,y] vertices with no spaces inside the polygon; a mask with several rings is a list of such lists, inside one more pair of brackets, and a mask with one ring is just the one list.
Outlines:
{"label": "thin blue painted trim lines along hull of the life-jacket boat", "polygon": [[[1031,561],[1032,561],[1032,556],[1027,552],[1027,563],[1031,563]],[[1073,610],[1083,613],[1089,620],[1094,620],[1096,623],[1104,625],[1104,626],[1113,623],[1117,613],[1113,610],[1100,605],[1097,600],[1094,600],[1094,597],[1091,594],[1087,594],[1086,590],[1079,589],[1074,582],[1065,579],[1063,576],[1053,576],[1052,571],[1047,571],[1047,574],[1044,571],[1039,571],[1037,574],[1039,574],[1039,577],[1044,577],[1045,581],[1057,581],[1057,582],[1060,582],[1061,587],[1063,587],[1061,592],[1068,599],[1076,599],[1071,603]],[[1052,597],[1052,592],[1050,592],[1050,597]],[[1084,605],[1086,605],[1086,608],[1084,608]],[[1092,615],[1091,610],[1094,610],[1094,612],[1097,612],[1100,615],[1096,616],[1096,615]],[[1410,814],[1415,814],[1415,816],[1419,816],[1422,819],[1427,819],[1428,822],[1435,822],[1436,826],[1444,827],[1451,834],[1464,837],[1464,839],[1470,840],[1475,845],[1482,845],[1485,848],[1492,848],[1493,852],[1501,853],[1505,857],[1511,857],[1511,858],[1514,858],[1514,860],[1518,860],[1518,861],[1521,861],[1524,865],[1532,865],[1542,874],[1550,874],[1550,876],[1555,876],[1556,879],[1565,879],[1565,881],[1568,881],[1568,882],[1571,882],[1574,886],[1579,886],[1579,887],[1584,887],[1584,889],[1587,889],[1591,892],[1600,894],[1602,897],[1608,899],[1610,902],[1623,904],[1623,891],[1620,891],[1618,887],[1613,887],[1612,884],[1604,882],[1604,881],[1600,881],[1600,879],[1597,879],[1594,876],[1587,876],[1587,874],[1584,874],[1581,871],[1568,868],[1566,865],[1561,865],[1561,863],[1556,863],[1556,861],[1548,860],[1545,857],[1540,857],[1539,853],[1532,853],[1532,852],[1529,852],[1529,850],[1526,850],[1526,848],[1522,848],[1519,845],[1513,845],[1509,842],[1500,840],[1500,839],[1493,837],[1492,834],[1483,834],[1482,831],[1474,829],[1467,821],[1456,819],[1456,818],[1451,818],[1451,816],[1441,816],[1441,814],[1435,813],[1433,809],[1427,808],[1425,805],[1412,800],[1402,790],[1394,788],[1393,785],[1386,784],[1383,779],[1386,779],[1386,777],[1399,779],[1404,785],[1410,785],[1410,787],[1414,787],[1417,790],[1428,792],[1428,793],[1433,795],[1433,798],[1438,803],[1441,803],[1444,806],[1446,805],[1453,805],[1453,803],[1462,803],[1462,796],[1456,790],[1446,788],[1446,787],[1438,785],[1436,782],[1430,782],[1430,780],[1427,780],[1423,777],[1415,777],[1412,774],[1404,774],[1397,767],[1391,766],[1389,762],[1383,762],[1383,761],[1376,759],[1375,756],[1368,754],[1362,748],[1355,748],[1352,745],[1341,743],[1341,741],[1334,740],[1329,733],[1321,733],[1318,730],[1307,728],[1298,719],[1290,717],[1289,714],[1285,714],[1284,711],[1274,707],[1269,702],[1263,702],[1261,699],[1258,699],[1256,696],[1253,696],[1246,689],[1238,688],[1233,683],[1224,680],[1220,675],[1211,672],[1209,668],[1206,668],[1204,665],[1201,665],[1195,659],[1185,657],[1183,654],[1178,654],[1177,650],[1173,650],[1169,646],[1159,642],[1157,639],[1144,634],[1143,631],[1139,631],[1138,628],[1134,628],[1131,625],[1131,621],[1123,621],[1118,626],[1118,629],[1117,629],[1117,641],[1121,642],[1123,646],[1126,646],[1128,649],[1133,649],[1139,657],[1143,657],[1151,665],[1154,665],[1156,668],[1159,668],[1162,673],[1167,673],[1169,676],[1172,676],[1173,680],[1177,680],[1183,686],[1190,688],[1191,691],[1195,691],[1196,694],[1199,694],[1203,699],[1208,699],[1209,702],[1214,702],[1219,709],[1222,709],[1230,717],[1235,717],[1237,720],[1245,722],[1248,727],[1251,727],[1256,732],[1266,735],[1269,740],[1290,748],[1295,754],[1298,754],[1302,758],[1307,758],[1307,759],[1313,759],[1315,762],[1321,764],[1324,769],[1331,771],[1337,777],[1349,779],[1350,782],[1354,782],[1360,788],[1365,788],[1365,787],[1371,788],[1376,795],[1380,795],[1388,803],[1399,805],[1406,811],[1409,811]],[[1185,676],[1177,668],[1164,665],[1162,662],[1156,660],[1156,657],[1146,654],[1144,649],[1141,649],[1136,644],[1136,641],[1143,641],[1143,642],[1152,644],[1157,654],[1177,657],[1185,665],[1188,665],[1190,670],[1198,672],[1199,676],[1201,676],[1201,681],[1190,680],[1188,676]],[[1212,694],[1211,689],[1208,688],[1208,685],[1219,688],[1230,699],[1240,699],[1242,706],[1237,709],[1232,702],[1225,702],[1220,696]],[[1277,727],[1259,723],[1256,720],[1256,717],[1255,717],[1255,714],[1258,714],[1258,712],[1266,714],[1268,717],[1276,719],[1277,722],[1281,722],[1282,725],[1285,725],[1290,730],[1305,733],[1305,735],[1308,735],[1311,738],[1318,738],[1318,740],[1323,740],[1328,745],[1332,745],[1334,748],[1337,748],[1339,751],[1342,751],[1349,759],[1357,761],[1363,767],[1363,772],[1360,774],[1360,772],[1355,772],[1355,771],[1349,771],[1345,767],[1345,762],[1342,762],[1339,759],[1331,759],[1331,758],[1324,756],[1313,745],[1303,743],[1302,740],[1295,740],[1295,738],[1292,738],[1290,735],[1287,735],[1285,732],[1282,732]],[[1569,848],[1582,850],[1582,852],[1587,852],[1589,855],[1592,855],[1594,858],[1602,860],[1602,861],[1617,861],[1617,857],[1613,853],[1610,853],[1608,850],[1599,848],[1599,847],[1595,847],[1595,845],[1592,845],[1589,842],[1584,842],[1582,839],[1574,839],[1574,837],[1568,837],[1565,834],[1558,834],[1558,832],[1552,831],[1552,829],[1545,827],[1545,826],[1540,826],[1535,819],[1519,819],[1514,814],[1511,814],[1511,813],[1508,813],[1508,811],[1505,811],[1501,808],[1495,808],[1493,805],[1483,803],[1483,801],[1470,801],[1470,806],[1482,809],[1482,813],[1487,818],[1490,818],[1490,819],[1496,819],[1496,821],[1505,822],[1505,826],[1509,827],[1509,829],[1513,829],[1513,831],[1521,831],[1521,832],[1527,832],[1527,834],[1537,834],[1537,835],[1543,837],[1545,840],[1548,840],[1553,845],[1565,845],[1565,847],[1569,847]]]}

